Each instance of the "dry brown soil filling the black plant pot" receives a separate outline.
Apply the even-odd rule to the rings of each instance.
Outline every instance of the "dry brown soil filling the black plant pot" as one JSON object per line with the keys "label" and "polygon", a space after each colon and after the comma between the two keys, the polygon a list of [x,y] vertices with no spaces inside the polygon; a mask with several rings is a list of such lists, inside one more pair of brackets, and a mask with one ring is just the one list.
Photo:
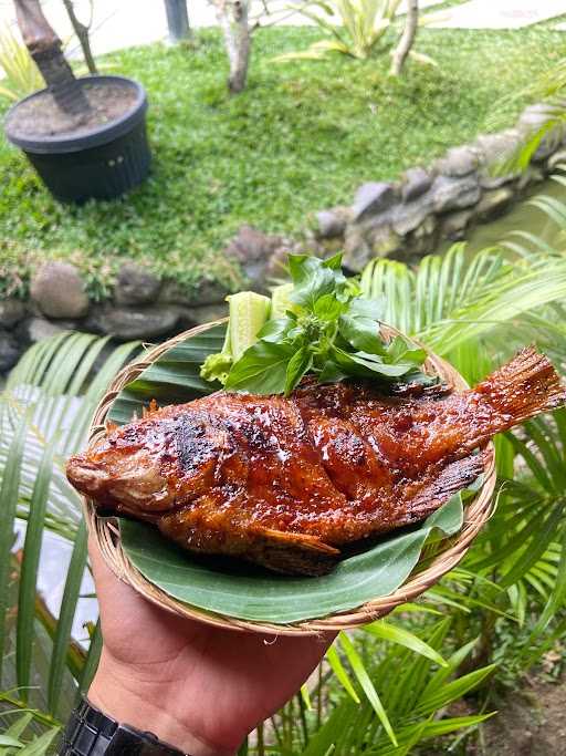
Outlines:
{"label": "dry brown soil filling the black plant pot", "polygon": [[60,110],[53,95],[44,92],[21,103],[7,126],[20,137],[82,136],[118,120],[130,111],[137,91],[118,82],[85,83],[83,90],[91,104],[91,113],[73,116]]}

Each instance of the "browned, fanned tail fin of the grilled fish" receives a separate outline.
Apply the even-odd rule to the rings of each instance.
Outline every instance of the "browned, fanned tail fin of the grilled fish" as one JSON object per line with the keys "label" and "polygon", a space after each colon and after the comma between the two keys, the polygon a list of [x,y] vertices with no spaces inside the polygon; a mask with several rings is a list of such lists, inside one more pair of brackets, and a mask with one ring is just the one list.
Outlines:
{"label": "browned, fanned tail fin of the grilled fish", "polygon": [[490,432],[494,434],[564,405],[566,386],[548,358],[527,346],[482,381],[473,395],[479,395],[480,414],[489,405]]}

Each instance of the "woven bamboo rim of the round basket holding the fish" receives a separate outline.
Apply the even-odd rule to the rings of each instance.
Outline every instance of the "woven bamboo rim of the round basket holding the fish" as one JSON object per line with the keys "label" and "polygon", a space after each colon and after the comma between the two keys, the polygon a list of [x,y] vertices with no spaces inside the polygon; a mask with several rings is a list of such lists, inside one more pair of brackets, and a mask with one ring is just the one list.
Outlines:
{"label": "woven bamboo rim of the round basket holding the fish", "polygon": [[[216,321],[199,325],[189,331],[159,344],[148,351],[143,360],[133,362],[122,370],[108,386],[108,391],[101,401],[94,414],[90,444],[93,444],[105,433],[105,424],[111,406],[119,392],[132,381],[137,379],[149,365],[156,362],[165,352],[185,341],[189,336],[197,335],[224,321]],[[392,328],[384,328],[385,335],[396,335],[399,332]],[[424,370],[429,374],[438,375],[442,381],[455,391],[468,387],[463,377],[446,360],[428,351]],[[378,597],[367,601],[360,607],[347,612],[324,617],[321,619],[302,621],[294,624],[271,624],[254,622],[226,617],[219,613],[206,611],[174,599],[160,588],[149,582],[130,562],[122,548],[120,535],[117,520],[101,518],[96,515],[93,503],[84,498],[84,512],[91,535],[97,541],[102,555],[114,573],[123,581],[129,583],[153,603],[181,617],[199,620],[211,625],[239,630],[252,631],[274,635],[312,635],[329,630],[345,630],[361,624],[367,624],[391,612],[407,601],[431,588],[440,578],[453,569],[464,557],[475,536],[489,519],[492,511],[492,498],[495,488],[495,454],[494,446],[490,443],[485,454],[485,468],[482,488],[469,500],[464,508],[464,522],[462,529],[450,538],[446,538],[433,550],[424,547],[419,563],[409,576],[407,581],[389,596]]]}

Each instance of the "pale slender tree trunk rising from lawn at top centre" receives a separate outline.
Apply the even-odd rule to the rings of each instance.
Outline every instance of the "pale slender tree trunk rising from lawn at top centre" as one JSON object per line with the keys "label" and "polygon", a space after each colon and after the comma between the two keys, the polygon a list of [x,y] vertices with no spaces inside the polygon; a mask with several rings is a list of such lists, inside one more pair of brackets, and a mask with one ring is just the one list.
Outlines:
{"label": "pale slender tree trunk rising from lawn at top centre", "polygon": [[241,92],[248,76],[251,46],[248,0],[214,0],[214,4],[230,61],[228,89],[230,92]]}

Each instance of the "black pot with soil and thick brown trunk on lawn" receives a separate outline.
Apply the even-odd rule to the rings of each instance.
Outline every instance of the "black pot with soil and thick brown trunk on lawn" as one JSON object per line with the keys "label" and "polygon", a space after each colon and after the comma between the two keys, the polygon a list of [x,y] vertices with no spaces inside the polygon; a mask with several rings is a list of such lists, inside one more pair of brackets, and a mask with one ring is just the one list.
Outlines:
{"label": "black pot with soil and thick brown trunk on lawn", "polygon": [[46,89],[8,112],[8,139],[62,201],[112,199],[140,184],[150,163],[144,87],[123,76],[76,79],[39,0],[14,3]]}

